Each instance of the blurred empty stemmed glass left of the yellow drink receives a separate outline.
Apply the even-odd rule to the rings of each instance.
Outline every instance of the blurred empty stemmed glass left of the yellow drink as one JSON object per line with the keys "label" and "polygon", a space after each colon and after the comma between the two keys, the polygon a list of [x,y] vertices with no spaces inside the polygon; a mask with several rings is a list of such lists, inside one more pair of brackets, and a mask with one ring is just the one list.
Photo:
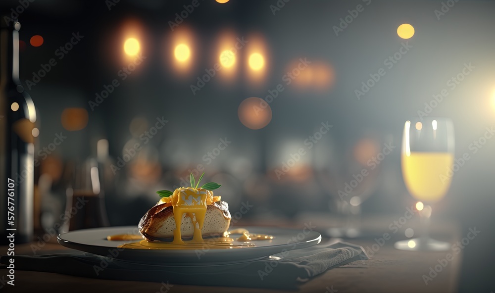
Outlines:
{"label": "blurred empty stemmed glass left of the yellow drink", "polygon": [[[330,209],[342,216],[340,227],[327,230],[329,237],[355,238],[363,235],[361,204],[377,189],[382,160],[382,142],[370,133],[347,147],[330,135],[323,136],[315,145],[313,165],[315,178],[330,197]],[[387,150],[388,152],[389,150]]]}

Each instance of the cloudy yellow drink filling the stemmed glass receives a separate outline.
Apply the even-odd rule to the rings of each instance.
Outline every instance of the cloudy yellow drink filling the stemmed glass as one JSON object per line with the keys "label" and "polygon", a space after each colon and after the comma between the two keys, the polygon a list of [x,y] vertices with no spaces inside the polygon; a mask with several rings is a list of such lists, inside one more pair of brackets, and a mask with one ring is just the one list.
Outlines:
{"label": "cloudy yellow drink filling the stemmed glass", "polygon": [[446,172],[453,161],[453,154],[446,152],[402,153],[402,176],[409,193],[418,200],[440,200],[450,187],[451,177]]}

